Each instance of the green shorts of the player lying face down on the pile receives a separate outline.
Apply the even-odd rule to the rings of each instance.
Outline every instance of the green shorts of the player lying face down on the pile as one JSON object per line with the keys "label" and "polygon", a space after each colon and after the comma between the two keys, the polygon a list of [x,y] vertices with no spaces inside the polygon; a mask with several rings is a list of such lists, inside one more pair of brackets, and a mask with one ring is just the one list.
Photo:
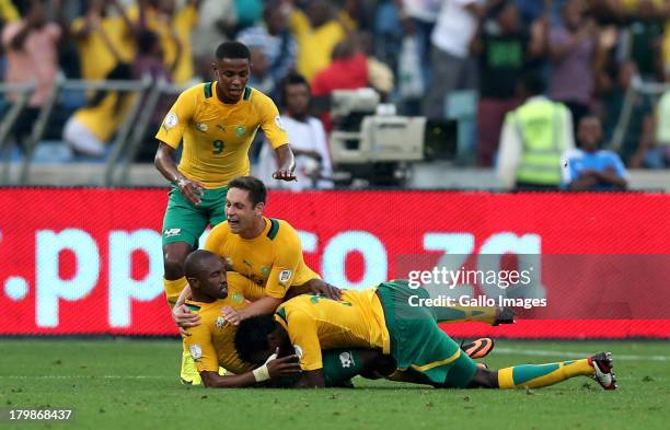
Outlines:
{"label": "green shorts of the player lying face down on the pile", "polygon": [[409,288],[407,281],[383,282],[378,291],[398,370],[412,369],[438,386],[470,385],[475,362],[438,327],[432,309],[409,305],[409,297],[427,299],[428,292]]}

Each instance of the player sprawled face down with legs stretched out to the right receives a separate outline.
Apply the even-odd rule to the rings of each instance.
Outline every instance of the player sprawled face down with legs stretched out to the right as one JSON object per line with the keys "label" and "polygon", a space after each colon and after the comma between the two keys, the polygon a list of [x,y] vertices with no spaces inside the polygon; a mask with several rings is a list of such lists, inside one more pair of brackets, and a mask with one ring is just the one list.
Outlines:
{"label": "player sprawled face down with legs stretched out to the right", "polygon": [[373,371],[391,373],[383,355],[394,360],[392,369],[409,372],[401,377],[396,372],[393,379],[436,387],[543,387],[580,375],[596,379],[604,390],[616,387],[610,352],[496,371],[480,368],[438,327],[434,309],[412,306],[411,297],[428,298],[428,293],[406,281],[391,281],[363,291],[344,290],[342,301],[299,295],[274,315],[244,319],[235,348],[253,363],[264,363],[277,349],[279,357],[297,353],[302,369],[299,387],[325,386],[322,349],[332,348],[376,349],[381,365]]}

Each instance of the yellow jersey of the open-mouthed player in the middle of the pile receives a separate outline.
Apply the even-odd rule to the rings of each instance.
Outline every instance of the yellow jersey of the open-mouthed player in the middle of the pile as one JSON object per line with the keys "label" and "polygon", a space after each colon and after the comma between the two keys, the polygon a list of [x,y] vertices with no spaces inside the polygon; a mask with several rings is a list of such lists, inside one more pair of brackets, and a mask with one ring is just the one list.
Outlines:
{"label": "yellow jersey of the open-mouthed player in the middle of the pile", "polygon": [[234,271],[263,286],[265,294],[282,299],[291,286],[319,275],[304,264],[296,229],[284,220],[263,219],[265,230],[251,240],[233,234],[228,221],[218,224],[209,232],[205,249],[226,257]]}

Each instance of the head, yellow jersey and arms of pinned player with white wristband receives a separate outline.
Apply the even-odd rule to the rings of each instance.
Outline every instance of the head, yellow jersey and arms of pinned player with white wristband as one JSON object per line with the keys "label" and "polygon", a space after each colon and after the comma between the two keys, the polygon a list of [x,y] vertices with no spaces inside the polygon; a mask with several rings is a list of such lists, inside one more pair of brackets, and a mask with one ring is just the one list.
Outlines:
{"label": "head, yellow jersey and arms of pinned player with white wristband", "polygon": [[[215,254],[198,249],[186,257],[184,271],[192,287],[193,298],[187,305],[197,312],[203,324],[184,336],[184,349],[195,360],[195,365],[208,387],[252,386],[277,376],[290,376],[300,371],[297,357],[269,360],[256,368],[242,361],[233,347],[236,327],[221,316],[222,305],[235,309],[246,306],[257,291],[246,278],[226,274],[223,262]],[[233,375],[220,375],[223,365]],[[256,369],[254,369],[256,368]]]}

